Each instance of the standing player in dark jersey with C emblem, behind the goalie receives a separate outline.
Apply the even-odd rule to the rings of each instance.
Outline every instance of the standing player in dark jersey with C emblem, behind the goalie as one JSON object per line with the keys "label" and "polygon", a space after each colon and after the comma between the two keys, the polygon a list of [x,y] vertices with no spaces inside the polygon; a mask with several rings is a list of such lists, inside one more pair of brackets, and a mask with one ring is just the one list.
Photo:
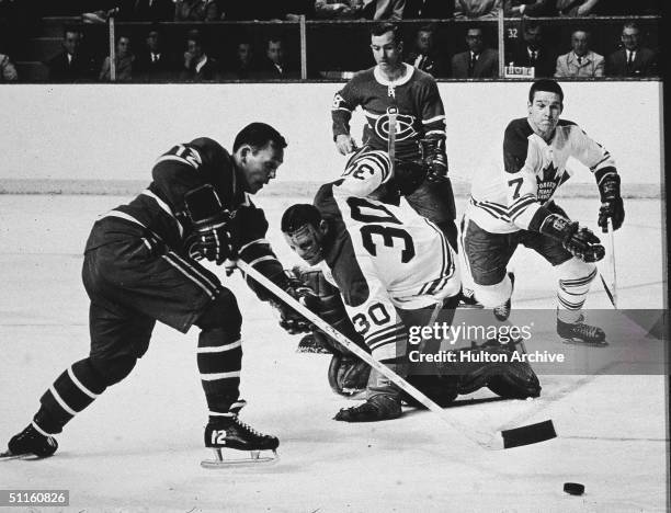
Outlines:
{"label": "standing player in dark jersey with C emblem, behind the goalie", "polygon": [[[333,140],[342,155],[356,149],[350,135],[350,119],[352,112],[361,106],[366,117],[364,151],[393,149],[398,160],[425,164],[427,180],[407,194],[408,203],[437,225],[456,248],[454,194],[445,150],[445,110],[435,79],[403,62],[402,47],[397,26],[380,23],[373,27],[371,48],[377,65],[356,73],[336,94],[331,107]],[[396,129],[390,148],[391,124]]]}

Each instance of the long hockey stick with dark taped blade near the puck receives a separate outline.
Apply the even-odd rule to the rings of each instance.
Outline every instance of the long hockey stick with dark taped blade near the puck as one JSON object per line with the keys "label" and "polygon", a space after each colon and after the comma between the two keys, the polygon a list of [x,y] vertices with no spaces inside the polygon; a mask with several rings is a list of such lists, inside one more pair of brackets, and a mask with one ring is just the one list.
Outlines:
{"label": "long hockey stick with dark taped blade near the puck", "polygon": [[307,320],[312,322],[317,328],[326,332],[340,345],[345,347],[348,351],[354,353],[375,371],[386,376],[398,388],[412,396],[412,398],[414,398],[418,402],[422,403],[427,409],[436,413],[436,415],[439,415],[441,420],[445,422],[451,429],[460,432],[463,436],[470,440],[471,442],[475,442],[481,447],[490,449],[516,447],[519,445],[527,445],[536,442],[543,442],[545,440],[553,438],[556,436],[554,426],[551,425],[551,421],[545,421],[538,424],[531,424],[513,430],[501,431],[492,435],[476,430],[474,428],[466,426],[460,422],[456,421],[455,419],[448,418],[439,404],[436,404],[424,394],[422,394],[420,390],[418,390],[408,381],[406,381],[402,377],[400,377],[389,367],[377,362],[375,358],[373,358],[372,355],[362,350],[359,345],[356,345],[354,342],[343,335],[340,331],[336,330],[331,324],[323,321],[319,316],[310,311],[307,307],[298,303],[296,299],[289,296],[286,292],[284,292],[273,282],[271,282],[268,277],[265,277],[254,267],[249,265],[247,262],[243,262],[242,260],[238,260],[237,264],[240,271],[242,271],[242,273],[257,281],[269,292],[282,299],[286,305],[291,306],[294,310],[296,310]]}

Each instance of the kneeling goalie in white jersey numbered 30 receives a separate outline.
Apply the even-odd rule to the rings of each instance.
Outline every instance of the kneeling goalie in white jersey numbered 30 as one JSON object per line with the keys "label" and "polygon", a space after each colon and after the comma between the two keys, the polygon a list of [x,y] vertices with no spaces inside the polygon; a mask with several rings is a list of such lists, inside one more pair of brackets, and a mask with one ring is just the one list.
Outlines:
{"label": "kneeling goalie in white jersey numbered 30", "polygon": [[[385,158],[388,163],[388,157]],[[320,312],[321,317],[351,338],[354,337],[349,327],[353,326],[373,357],[405,377],[409,372],[406,355],[409,327],[425,324],[442,306],[445,307],[442,322],[452,321],[460,289],[456,254],[443,232],[427,218],[407,206],[352,195],[350,186],[355,187],[355,183],[345,176],[323,185],[315,197],[315,206],[289,207],[282,217],[282,231],[292,250],[309,265],[319,265],[323,277],[338,287],[351,324],[342,319],[336,301],[330,303],[328,311]],[[386,189],[383,184],[375,195],[383,197]],[[352,364],[349,361],[343,365],[338,355],[333,358],[329,376],[340,392],[348,379],[345,375],[359,373],[359,379],[367,377],[361,366]],[[528,365],[503,371],[486,364],[476,367],[459,373],[467,376],[458,379],[452,379],[448,371],[445,376],[436,371],[439,384],[432,387],[432,395],[445,403],[459,392],[498,379],[504,383],[502,394],[509,397],[538,395],[537,378]],[[428,377],[418,379],[427,384]],[[342,409],[336,420],[367,422],[400,414],[400,391],[384,375],[373,372],[366,401]]]}

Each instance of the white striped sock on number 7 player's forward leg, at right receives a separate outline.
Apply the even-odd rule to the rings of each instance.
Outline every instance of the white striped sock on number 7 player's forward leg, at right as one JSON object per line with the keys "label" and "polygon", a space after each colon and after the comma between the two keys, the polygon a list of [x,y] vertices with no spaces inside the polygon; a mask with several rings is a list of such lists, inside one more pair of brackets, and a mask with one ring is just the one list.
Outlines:
{"label": "white striped sock on number 7 player's forward leg, at right", "polygon": [[576,322],[596,277],[596,267],[576,258],[557,266],[557,318],[562,322]]}

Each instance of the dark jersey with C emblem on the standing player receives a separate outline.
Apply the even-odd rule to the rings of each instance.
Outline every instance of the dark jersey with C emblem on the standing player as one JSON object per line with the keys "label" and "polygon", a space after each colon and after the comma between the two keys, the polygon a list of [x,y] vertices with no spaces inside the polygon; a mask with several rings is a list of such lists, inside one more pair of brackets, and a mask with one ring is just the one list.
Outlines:
{"label": "dark jersey with C emblem on the standing player", "polygon": [[396,81],[386,80],[376,66],[356,73],[338,91],[331,107],[333,138],[350,134],[352,112],[361,106],[366,117],[363,144],[386,151],[389,142],[389,109],[394,102],[398,110],[397,158],[417,158],[419,139],[427,136],[445,137],[445,110],[435,80],[408,64],[403,66],[406,75]]}

